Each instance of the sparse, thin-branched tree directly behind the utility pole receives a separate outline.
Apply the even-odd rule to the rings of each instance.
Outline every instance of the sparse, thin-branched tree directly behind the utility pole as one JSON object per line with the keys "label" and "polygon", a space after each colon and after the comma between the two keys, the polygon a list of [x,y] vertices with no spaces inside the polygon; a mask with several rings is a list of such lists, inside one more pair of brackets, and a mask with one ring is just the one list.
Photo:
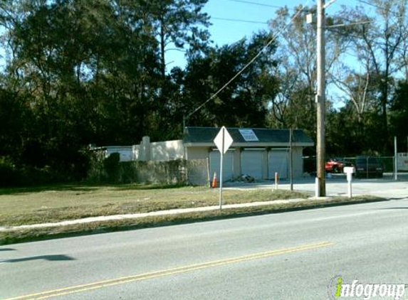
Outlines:
{"label": "sparse, thin-branched tree directly behind the utility pole", "polygon": [[[300,14],[298,14],[298,12]],[[270,21],[272,31],[280,31],[278,38],[279,70],[276,75],[280,80],[280,92],[271,100],[271,115],[276,121],[285,126],[289,120],[296,124],[300,114],[295,114],[296,106],[303,103],[303,109],[308,110],[304,117],[312,119],[315,112],[315,87],[316,87],[316,28],[315,25],[306,23],[306,15],[315,13],[315,7],[298,6],[293,14],[288,8],[276,12],[276,18]],[[294,16],[298,16],[294,18]],[[339,23],[333,18],[330,23]],[[282,30],[283,29],[283,30]],[[330,70],[339,60],[349,45],[348,37],[335,31],[328,31],[326,38],[327,68]],[[328,78],[330,81],[330,78]],[[302,99],[304,98],[304,99]],[[296,99],[295,101],[293,99]],[[289,109],[291,107],[293,109]],[[286,116],[285,116],[286,114]],[[289,117],[291,114],[291,117]],[[311,122],[313,123],[313,122]],[[313,127],[315,124],[312,125]]]}

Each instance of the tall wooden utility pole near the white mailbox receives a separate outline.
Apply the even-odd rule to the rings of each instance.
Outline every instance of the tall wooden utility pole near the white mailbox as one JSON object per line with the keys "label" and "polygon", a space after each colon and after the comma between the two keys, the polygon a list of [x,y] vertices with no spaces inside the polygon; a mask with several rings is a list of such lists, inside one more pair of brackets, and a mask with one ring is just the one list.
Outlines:
{"label": "tall wooden utility pole near the white mailbox", "polygon": [[318,45],[317,45],[317,181],[318,196],[325,197],[325,0],[317,0],[318,4]]}

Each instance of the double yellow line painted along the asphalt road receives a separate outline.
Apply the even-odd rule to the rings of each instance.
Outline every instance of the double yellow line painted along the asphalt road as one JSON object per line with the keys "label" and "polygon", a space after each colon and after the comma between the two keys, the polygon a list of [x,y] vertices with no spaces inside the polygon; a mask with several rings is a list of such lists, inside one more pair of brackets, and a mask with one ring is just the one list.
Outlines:
{"label": "double yellow line painted along the asphalt road", "polygon": [[108,286],[115,286],[118,284],[125,284],[127,282],[138,282],[141,280],[147,280],[147,279],[153,279],[157,277],[164,277],[164,276],[169,276],[169,275],[174,275],[174,274],[179,274],[179,273],[184,273],[184,272],[192,272],[196,271],[199,269],[207,269],[210,267],[219,267],[223,266],[226,264],[236,264],[238,262],[246,262],[249,260],[253,259],[262,259],[266,257],[271,257],[275,255],[283,255],[283,254],[288,254],[288,253],[293,253],[293,252],[300,252],[300,251],[305,251],[305,250],[313,250],[313,249],[318,249],[322,247],[328,247],[334,245],[333,242],[318,242],[315,244],[309,244],[309,245],[302,245],[298,247],[291,247],[291,248],[285,248],[281,250],[272,250],[268,252],[261,252],[261,253],[256,253],[252,255],[244,255],[241,257],[233,257],[229,259],[221,259],[221,260],[216,260],[212,262],[204,262],[202,264],[191,264],[189,266],[185,267],[177,267],[173,269],[164,269],[161,271],[156,271],[156,272],[149,272],[149,273],[144,273],[144,274],[138,274],[138,275],[132,275],[132,276],[127,276],[127,277],[120,277],[116,279],[108,279],[108,280],[103,280],[101,282],[93,282],[90,284],[81,284],[78,286],[70,286],[66,287],[63,289],[54,289],[51,291],[43,291],[41,293],[37,294],[29,294],[25,296],[18,296],[15,298],[9,298],[9,299],[4,299],[4,300],[40,300],[40,299],[48,299],[51,297],[56,297],[56,296],[64,296],[68,294],[74,294],[74,293],[80,293],[83,291],[91,291],[93,289],[102,289],[104,287]]}

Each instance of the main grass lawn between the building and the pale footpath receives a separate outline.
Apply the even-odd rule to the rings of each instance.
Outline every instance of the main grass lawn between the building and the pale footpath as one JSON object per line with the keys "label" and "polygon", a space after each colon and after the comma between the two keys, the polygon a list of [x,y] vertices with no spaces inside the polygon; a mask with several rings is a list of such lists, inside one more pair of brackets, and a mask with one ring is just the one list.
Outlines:
{"label": "main grass lawn between the building and the pale footpath", "polygon": [[[0,189],[0,226],[216,205],[218,195],[218,190],[205,187],[139,184]],[[305,193],[272,189],[224,191],[226,204],[307,197]]]}

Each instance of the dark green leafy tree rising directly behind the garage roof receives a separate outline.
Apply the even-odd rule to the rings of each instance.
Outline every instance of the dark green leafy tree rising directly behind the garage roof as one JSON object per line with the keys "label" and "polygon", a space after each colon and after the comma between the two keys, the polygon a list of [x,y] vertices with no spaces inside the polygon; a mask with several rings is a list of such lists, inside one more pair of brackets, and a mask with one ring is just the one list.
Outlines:
{"label": "dark green leafy tree rising directly behind the garage roof", "polygon": [[[209,48],[204,55],[189,60],[183,85],[184,115],[226,85],[261,51],[271,34],[258,33],[249,41],[242,39],[232,45]],[[276,68],[271,45],[213,100],[194,112],[187,124],[197,126],[264,127],[266,105],[276,95]]]}

